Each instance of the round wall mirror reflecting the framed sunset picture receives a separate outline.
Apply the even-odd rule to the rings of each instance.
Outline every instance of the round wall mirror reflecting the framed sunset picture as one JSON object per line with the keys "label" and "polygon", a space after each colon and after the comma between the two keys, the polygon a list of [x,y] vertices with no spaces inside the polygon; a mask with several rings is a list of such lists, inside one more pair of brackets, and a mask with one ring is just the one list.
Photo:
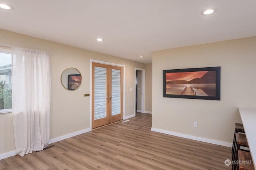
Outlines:
{"label": "round wall mirror reflecting the framed sunset picture", "polygon": [[76,90],[82,82],[81,73],[76,68],[67,68],[61,74],[61,82],[64,88]]}

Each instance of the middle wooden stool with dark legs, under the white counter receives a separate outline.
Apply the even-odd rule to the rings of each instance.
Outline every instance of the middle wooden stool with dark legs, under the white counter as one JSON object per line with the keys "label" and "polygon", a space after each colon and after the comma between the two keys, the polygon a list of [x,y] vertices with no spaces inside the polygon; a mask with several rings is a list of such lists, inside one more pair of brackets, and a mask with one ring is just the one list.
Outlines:
{"label": "middle wooden stool with dark legs, under the white counter", "polygon": [[[234,151],[232,154],[232,161],[238,160],[238,150],[242,150],[245,152],[250,152],[249,150],[243,150],[241,147],[248,147],[246,135],[243,133],[236,133],[236,142],[235,142],[235,147]],[[232,164],[232,170],[236,170],[237,164]]]}

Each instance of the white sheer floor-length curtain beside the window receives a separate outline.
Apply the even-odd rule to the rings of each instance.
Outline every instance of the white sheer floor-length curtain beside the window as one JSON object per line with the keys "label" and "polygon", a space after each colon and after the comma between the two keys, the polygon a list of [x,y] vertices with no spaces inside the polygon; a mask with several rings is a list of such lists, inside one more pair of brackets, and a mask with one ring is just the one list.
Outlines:
{"label": "white sheer floor-length curtain beside the window", "polygon": [[12,113],[16,154],[43,150],[50,137],[50,58],[12,47]]}

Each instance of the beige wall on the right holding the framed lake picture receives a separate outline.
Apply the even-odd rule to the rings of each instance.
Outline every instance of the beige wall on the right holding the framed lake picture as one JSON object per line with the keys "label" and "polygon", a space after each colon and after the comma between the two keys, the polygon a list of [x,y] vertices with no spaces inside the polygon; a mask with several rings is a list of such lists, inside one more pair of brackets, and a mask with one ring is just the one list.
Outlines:
{"label": "beige wall on the right holding the framed lake picture", "polygon": [[[152,127],[232,143],[238,107],[256,104],[256,37],[154,51],[152,61]],[[162,70],[212,66],[221,66],[220,101],[162,97]]]}

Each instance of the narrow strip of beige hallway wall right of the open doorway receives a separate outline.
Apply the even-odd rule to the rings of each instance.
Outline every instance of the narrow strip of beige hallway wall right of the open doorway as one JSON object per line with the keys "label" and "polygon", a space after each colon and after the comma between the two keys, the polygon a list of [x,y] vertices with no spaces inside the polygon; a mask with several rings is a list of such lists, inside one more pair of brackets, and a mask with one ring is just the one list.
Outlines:
{"label": "narrow strip of beige hallway wall right of the open doorway", "polygon": [[145,111],[152,113],[152,63],[146,64],[145,71]]}

